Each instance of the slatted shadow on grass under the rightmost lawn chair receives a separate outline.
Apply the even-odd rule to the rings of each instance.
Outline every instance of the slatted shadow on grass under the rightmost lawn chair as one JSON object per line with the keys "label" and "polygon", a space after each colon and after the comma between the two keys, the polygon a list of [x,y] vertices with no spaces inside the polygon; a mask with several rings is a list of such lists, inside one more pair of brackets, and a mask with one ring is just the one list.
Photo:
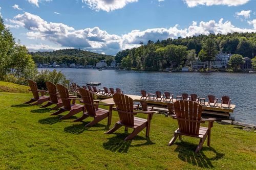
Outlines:
{"label": "slatted shadow on grass under the rightmost lawn chair", "polygon": [[[221,159],[225,154],[217,152],[214,148],[211,147],[203,147],[200,152],[195,153],[197,148],[197,144],[189,143],[189,142],[176,142],[172,145],[174,147],[177,145],[175,152],[178,152],[178,157],[189,164],[193,164],[203,168],[214,168],[211,161]],[[215,155],[213,157],[207,157],[204,152],[211,152]]]}

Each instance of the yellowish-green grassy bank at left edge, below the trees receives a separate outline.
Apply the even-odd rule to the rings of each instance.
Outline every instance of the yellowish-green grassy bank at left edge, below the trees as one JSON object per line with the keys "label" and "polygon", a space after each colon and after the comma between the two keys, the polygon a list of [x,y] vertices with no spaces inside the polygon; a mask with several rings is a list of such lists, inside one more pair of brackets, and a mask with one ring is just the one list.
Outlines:
{"label": "yellowish-green grassy bank at left edge, below the trees", "polygon": [[29,92],[29,87],[19,85],[19,84],[0,81],[0,91],[1,92],[28,93]]}

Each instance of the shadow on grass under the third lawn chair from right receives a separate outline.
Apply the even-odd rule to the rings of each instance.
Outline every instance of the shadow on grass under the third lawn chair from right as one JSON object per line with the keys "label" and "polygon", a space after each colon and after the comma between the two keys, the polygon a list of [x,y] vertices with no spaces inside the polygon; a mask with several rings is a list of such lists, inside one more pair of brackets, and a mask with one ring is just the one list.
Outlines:
{"label": "shadow on grass under the third lawn chair from right", "polygon": [[[102,125],[102,124],[99,124],[99,123],[94,125],[93,127],[84,127],[89,123],[90,122],[82,122],[82,124],[75,124],[75,125],[66,127],[64,129],[64,132],[73,133],[73,134],[80,134],[83,131],[102,131],[102,130],[106,131],[106,130],[109,130],[109,126]],[[92,130],[92,128],[94,128],[94,127],[104,127],[104,129],[93,129]]]}

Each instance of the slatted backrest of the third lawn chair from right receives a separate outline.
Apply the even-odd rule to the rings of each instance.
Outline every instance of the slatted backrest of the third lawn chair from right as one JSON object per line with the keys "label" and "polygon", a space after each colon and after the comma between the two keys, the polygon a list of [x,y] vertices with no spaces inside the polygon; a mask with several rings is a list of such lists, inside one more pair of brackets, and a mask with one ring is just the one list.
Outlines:
{"label": "slatted backrest of the third lawn chair from right", "polygon": [[84,88],[79,88],[81,98],[86,108],[86,112],[90,115],[95,115],[95,106],[93,106],[93,93]]}

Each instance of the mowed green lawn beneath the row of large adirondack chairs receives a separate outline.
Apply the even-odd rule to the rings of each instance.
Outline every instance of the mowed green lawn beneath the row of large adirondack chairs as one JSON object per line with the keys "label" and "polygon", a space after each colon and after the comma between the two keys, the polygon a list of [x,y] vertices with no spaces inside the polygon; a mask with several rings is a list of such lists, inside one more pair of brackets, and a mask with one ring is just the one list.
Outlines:
{"label": "mowed green lawn beneath the row of large adirondack chairs", "polygon": [[[49,108],[22,104],[31,97],[0,92],[1,169],[256,169],[254,131],[214,123],[211,148],[205,142],[195,154],[197,138],[183,136],[167,146],[178,124],[162,114],[153,116],[150,138],[143,130],[134,140],[123,141],[124,128],[106,135],[106,120],[84,128],[92,118],[74,123],[81,113],[59,120]],[[111,127],[117,120],[113,112]]]}

